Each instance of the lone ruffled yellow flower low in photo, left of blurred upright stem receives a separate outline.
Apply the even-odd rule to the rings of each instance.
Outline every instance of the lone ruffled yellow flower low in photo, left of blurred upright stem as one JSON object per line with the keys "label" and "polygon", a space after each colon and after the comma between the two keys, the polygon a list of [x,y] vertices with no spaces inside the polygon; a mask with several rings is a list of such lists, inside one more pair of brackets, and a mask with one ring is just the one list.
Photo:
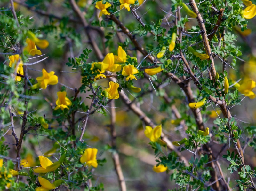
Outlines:
{"label": "lone ruffled yellow flower low in photo, left of blurred upright stem", "polygon": [[98,149],[96,148],[87,148],[84,151],[84,154],[80,158],[81,163],[86,163],[87,166],[93,166],[94,168],[97,168],[98,163],[96,159]]}

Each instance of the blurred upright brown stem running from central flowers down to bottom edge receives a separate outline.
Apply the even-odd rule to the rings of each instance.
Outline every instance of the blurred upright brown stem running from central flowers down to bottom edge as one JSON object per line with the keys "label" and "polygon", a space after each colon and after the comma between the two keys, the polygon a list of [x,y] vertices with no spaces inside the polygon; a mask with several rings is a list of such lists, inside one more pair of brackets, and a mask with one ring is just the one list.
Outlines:
{"label": "blurred upright brown stem running from central flowers down to bottom edge", "polygon": [[124,180],[124,175],[122,172],[122,168],[120,165],[119,155],[116,151],[116,129],[115,129],[115,123],[116,123],[116,108],[115,108],[115,101],[112,101],[110,103],[111,106],[111,125],[110,125],[110,135],[111,135],[111,146],[113,149],[115,149],[112,152],[112,159],[114,161],[116,174],[118,177],[118,182],[120,186],[121,191],[126,191],[126,184]]}

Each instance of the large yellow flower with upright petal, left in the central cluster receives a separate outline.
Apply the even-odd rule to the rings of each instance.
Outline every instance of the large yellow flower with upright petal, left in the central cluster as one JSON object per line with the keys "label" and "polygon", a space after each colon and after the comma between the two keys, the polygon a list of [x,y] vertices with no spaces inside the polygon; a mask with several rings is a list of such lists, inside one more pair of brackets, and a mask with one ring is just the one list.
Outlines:
{"label": "large yellow flower with upright petal, left in the central cluster", "polygon": [[114,64],[115,58],[113,53],[108,53],[102,62],[95,63],[94,65],[101,71],[118,72],[122,69],[120,64]]}

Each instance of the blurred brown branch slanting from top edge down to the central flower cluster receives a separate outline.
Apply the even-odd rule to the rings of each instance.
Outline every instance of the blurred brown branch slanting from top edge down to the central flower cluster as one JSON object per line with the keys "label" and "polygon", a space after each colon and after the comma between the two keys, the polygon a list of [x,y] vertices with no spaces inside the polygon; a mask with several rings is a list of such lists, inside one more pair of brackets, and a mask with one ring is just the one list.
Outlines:
{"label": "blurred brown branch slanting from top edge down to the central flower cluster", "polygon": [[78,7],[78,5],[76,4],[76,1],[75,0],[69,0],[69,3],[71,5],[73,11],[76,13],[76,15],[79,17],[79,19],[81,20],[81,22],[84,25],[84,31],[85,31],[85,33],[86,33],[86,35],[88,37],[89,44],[91,44],[92,49],[95,51],[98,59],[99,60],[103,60],[104,57],[103,57],[103,55],[101,53],[101,50],[99,49],[96,41],[94,39],[92,39],[93,34],[90,31],[90,27],[87,24],[87,21],[85,20],[83,13],[81,12],[81,10]]}

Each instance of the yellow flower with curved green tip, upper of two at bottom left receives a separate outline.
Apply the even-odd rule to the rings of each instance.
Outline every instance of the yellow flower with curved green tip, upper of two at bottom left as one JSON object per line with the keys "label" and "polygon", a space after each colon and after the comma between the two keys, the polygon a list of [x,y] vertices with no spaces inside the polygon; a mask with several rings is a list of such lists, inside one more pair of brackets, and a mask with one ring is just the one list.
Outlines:
{"label": "yellow flower with curved green tip, upper of two at bottom left", "polygon": [[65,155],[62,155],[58,161],[55,163],[52,163],[48,158],[44,156],[39,156],[39,161],[41,166],[34,169],[34,172],[36,173],[47,173],[55,171],[64,161]]}

